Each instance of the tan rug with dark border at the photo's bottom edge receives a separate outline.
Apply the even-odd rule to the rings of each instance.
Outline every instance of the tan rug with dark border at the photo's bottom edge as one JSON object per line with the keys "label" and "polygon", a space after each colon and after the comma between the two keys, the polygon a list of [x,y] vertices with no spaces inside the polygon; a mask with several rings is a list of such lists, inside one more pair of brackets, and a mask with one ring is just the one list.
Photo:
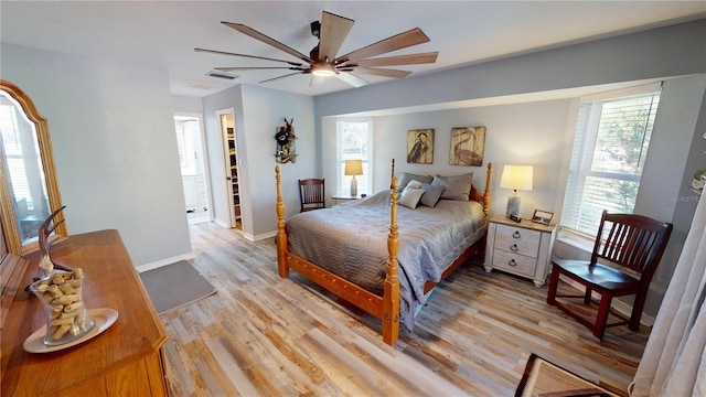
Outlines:
{"label": "tan rug with dark border at the photo's bottom edge", "polygon": [[618,397],[542,357],[532,354],[515,397]]}

